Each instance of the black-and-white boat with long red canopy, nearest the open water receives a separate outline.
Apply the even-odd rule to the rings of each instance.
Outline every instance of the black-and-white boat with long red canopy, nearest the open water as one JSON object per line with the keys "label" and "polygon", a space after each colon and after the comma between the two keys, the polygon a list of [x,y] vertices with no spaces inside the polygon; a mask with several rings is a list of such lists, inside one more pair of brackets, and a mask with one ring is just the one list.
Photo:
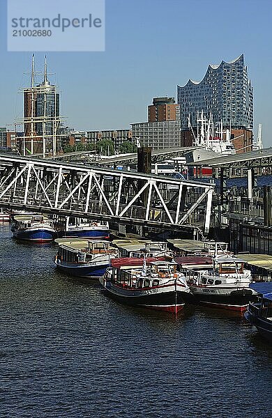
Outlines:
{"label": "black-and-white boat with long red canopy, nearest the open water", "polygon": [[175,314],[184,306],[183,295],[190,291],[176,263],[158,258],[115,258],[100,283],[124,304]]}

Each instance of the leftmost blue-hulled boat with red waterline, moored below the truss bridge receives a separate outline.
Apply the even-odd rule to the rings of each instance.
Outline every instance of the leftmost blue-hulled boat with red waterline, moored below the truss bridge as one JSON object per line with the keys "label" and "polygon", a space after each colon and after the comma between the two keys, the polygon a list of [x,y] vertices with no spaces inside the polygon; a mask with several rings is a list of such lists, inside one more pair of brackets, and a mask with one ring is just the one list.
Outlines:
{"label": "leftmost blue-hulled boat with red waterline, moored below the truss bridge", "polygon": [[50,242],[57,235],[54,222],[45,215],[15,216],[11,230],[17,240],[31,242]]}

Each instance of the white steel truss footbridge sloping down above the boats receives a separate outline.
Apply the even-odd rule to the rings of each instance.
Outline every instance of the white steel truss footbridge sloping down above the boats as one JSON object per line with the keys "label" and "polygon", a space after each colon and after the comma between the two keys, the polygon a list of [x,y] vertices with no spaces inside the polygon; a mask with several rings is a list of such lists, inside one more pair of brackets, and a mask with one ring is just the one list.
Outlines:
{"label": "white steel truss footbridge sloping down above the boats", "polygon": [[0,154],[0,207],[209,232],[213,185]]}

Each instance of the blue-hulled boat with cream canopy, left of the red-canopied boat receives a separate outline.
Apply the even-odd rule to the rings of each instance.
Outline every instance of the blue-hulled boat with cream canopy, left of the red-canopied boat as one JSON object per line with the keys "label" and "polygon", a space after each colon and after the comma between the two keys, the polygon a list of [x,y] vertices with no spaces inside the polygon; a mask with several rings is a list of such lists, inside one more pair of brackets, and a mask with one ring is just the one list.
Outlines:
{"label": "blue-hulled boat with cream canopy, left of the red-canopied boat", "polygon": [[80,240],[79,238],[57,239],[56,267],[75,277],[98,279],[105,274],[116,249],[104,240]]}

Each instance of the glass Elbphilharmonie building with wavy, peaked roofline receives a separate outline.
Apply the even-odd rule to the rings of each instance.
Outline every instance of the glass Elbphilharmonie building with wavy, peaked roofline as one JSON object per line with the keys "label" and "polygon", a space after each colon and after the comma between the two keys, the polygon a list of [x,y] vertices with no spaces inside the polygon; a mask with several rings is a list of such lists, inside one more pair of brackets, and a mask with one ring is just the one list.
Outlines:
{"label": "glass Elbphilharmonie building with wavy, peaked roofline", "polygon": [[191,79],[178,86],[181,110],[181,130],[188,130],[188,117],[192,127],[197,125],[197,112],[203,110],[214,123],[234,129],[253,128],[253,88],[248,79],[243,54],[229,63],[209,65],[201,82]]}

